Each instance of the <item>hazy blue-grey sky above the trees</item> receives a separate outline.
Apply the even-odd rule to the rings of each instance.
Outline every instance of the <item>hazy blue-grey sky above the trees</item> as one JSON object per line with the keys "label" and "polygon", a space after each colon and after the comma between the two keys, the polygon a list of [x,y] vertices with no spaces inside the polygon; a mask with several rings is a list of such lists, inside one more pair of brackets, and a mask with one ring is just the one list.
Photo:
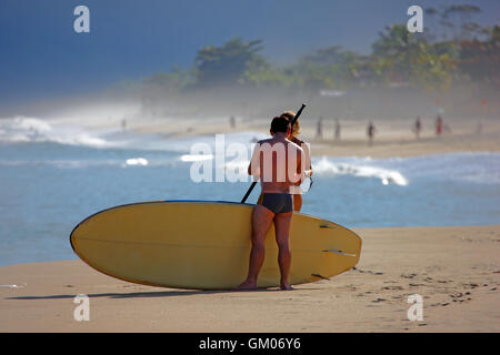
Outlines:
{"label": "hazy blue-grey sky above the trees", "polygon": [[[409,6],[452,3],[500,23],[500,0],[0,0],[0,109],[187,68],[201,47],[236,36],[264,40],[273,62],[336,44],[369,53],[386,26],[407,22]],[[73,30],[79,4],[90,9],[90,33]]]}

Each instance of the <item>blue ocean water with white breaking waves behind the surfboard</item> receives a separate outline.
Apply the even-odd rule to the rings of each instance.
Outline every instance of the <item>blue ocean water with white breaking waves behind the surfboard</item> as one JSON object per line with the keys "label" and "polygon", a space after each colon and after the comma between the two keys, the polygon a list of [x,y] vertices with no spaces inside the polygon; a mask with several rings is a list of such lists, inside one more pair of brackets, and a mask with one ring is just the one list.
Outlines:
{"label": "blue ocean water with white breaking waves behind the surfboard", "polygon": [[[224,135],[226,145],[263,135]],[[77,258],[69,235],[111,206],[161,200],[239,202],[250,186],[196,182],[193,172],[247,170],[248,160],[216,150],[213,135],[172,138],[84,129],[37,118],[0,120],[0,266]],[[313,151],[313,149],[312,149]],[[397,152],[394,152],[397,155]],[[500,224],[500,153],[417,158],[318,156],[302,212],[347,227]],[[254,203],[258,187],[248,203]]]}

